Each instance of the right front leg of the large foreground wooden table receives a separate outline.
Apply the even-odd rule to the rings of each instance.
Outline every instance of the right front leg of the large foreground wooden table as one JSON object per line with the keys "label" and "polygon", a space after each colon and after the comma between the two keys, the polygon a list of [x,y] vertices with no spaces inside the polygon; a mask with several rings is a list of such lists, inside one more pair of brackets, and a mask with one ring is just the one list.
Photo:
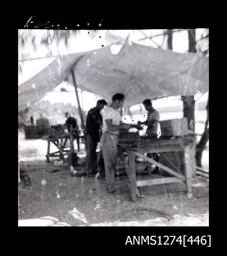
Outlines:
{"label": "right front leg of the large foreground wooden table", "polygon": [[192,169],[191,169],[191,158],[193,156],[190,153],[189,145],[184,146],[184,171],[186,176],[186,189],[188,194],[192,194]]}

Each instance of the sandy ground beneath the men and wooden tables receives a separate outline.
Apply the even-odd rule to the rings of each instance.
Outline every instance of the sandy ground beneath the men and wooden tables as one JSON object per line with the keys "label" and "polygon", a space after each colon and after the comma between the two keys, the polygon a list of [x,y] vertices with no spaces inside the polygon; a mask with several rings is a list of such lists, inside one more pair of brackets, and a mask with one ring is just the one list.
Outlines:
{"label": "sandy ground beneath the men and wooden tables", "polygon": [[[23,180],[19,184],[19,220],[52,216],[72,226],[208,225],[209,184],[206,178],[198,175],[193,178],[192,196],[187,195],[184,184],[161,184],[143,187],[145,197],[132,202],[127,176],[118,177],[124,191],[122,195],[108,194],[105,178],[75,177],[69,166],[54,164],[58,159],[51,158],[47,163],[47,141],[25,140],[24,134],[19,133],[19,146],[20,169],[25,170],[31,181],[30,186],[25,186]],[[50,150],[54,151],[54,146]],[[83,160],[85,155],[82,147],[80,159]],[[207,157],[208,151],[202,159],[206,167]],[[140,177],[142,175],[137,175],[137,179]],[[124,211],[139,208],[152,208],[159,213],[143,210],[121,215]]]}

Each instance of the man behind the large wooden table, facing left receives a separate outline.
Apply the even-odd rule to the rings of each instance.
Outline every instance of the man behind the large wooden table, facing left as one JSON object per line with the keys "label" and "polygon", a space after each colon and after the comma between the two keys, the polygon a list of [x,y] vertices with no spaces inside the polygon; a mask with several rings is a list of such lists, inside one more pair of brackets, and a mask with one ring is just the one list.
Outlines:
{"label": "man behind the large wooden table, facing left", "polygon": [[[157,138],[158,136],[158,121],[159,121],[159,113],[158,111],[156,111],[151,103],[150,99],[146,99],[143,101],[143,106],[145,107],[145,109],[148,111],[148,118],[145,122],[140,122],[138,121],[138,124],[140,125],[147,125],[147,135],[151,138]],[[158,162],[159,157],[158,154],[147,154],[148,157],[152,158],[155,155],[155,161]],[[148,171],[149,169],[151,169],[150,167],[148,167]],[[158,166],[156,166],[156,168],[153,170],[152,172],[153,174],[158,173]]]}

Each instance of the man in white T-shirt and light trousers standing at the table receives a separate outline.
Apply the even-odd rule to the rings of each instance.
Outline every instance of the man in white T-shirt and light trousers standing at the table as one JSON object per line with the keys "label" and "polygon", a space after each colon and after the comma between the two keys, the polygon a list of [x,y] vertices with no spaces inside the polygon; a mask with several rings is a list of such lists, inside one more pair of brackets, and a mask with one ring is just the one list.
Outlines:
{"label": "man in white T-shirt and light trousers standing at the table", "polygon": [[120,129],[137,128],[143,129],[140,125],[123,123],[118,108],[123,106],[124,95],[117,93],[112,97],[112,103],[105,108],[103,117],[103,135],[101,138],[101,147],[104,157],[106,185],[109,193],[120,193],[117,187],[114,172],[116,169],[118,157],[118,134]]}

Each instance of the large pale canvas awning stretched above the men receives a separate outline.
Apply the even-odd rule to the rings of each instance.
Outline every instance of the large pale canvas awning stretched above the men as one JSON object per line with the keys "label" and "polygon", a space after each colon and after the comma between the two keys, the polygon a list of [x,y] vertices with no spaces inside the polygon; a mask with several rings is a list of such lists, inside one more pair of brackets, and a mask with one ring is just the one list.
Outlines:
{"label": "large pale canvas awning stretched above the men", "polygon": [[[76,65],[75,65],[76,63]],[[108,102],[115,93],[125,95],[124,107],[166,96],[192,96],[208,91],[209,58],[178,53],[125,41],[114,55],[111,45],[97,50],[58,56],[18,90],[19,111],[41,99],[61,82],[100,95]]]}

